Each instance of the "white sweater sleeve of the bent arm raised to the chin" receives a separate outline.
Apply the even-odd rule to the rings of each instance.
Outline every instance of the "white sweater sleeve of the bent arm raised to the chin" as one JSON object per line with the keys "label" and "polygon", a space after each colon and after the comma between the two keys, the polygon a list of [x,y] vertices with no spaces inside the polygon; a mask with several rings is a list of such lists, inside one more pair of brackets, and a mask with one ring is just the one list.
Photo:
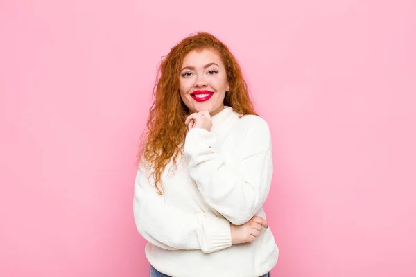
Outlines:
{"label": "white sweater sleeve of the bent arm raised to the chin", "polygon": [[205,129],[189,130],[184,145],[190,175],[205,202],[236,225],[248,222],[266,202],[273,172],[268,124],[258,116],[248,124],[242,143],[236,142],[236,166],[224,159],[215,134]]}

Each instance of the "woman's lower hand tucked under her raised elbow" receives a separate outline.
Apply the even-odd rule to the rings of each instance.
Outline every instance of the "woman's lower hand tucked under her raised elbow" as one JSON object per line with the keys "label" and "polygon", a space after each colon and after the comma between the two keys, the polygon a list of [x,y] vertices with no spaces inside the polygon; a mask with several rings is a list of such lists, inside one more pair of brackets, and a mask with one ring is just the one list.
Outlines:
{"label": "woman's lower hand tucked under her raised elbow", "polygon": [[263,218],[254,216],[251,220],[243,225],[231,226],[231,242],[232,244],[240,244],[245,242],[254,242],[257,236],[260,234],[261,228],[268,228],[266,220]]}

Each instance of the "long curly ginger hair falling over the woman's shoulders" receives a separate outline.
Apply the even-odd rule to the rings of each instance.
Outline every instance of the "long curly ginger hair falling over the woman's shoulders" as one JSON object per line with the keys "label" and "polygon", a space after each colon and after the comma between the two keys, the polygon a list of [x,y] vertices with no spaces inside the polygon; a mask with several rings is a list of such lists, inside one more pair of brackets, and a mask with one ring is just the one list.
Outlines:
{"label": "long curly ginger hair falling over the woman's shoulders", "polygon": [[[229,48],[207,32],[198,32],[182,39],[159,64],[157,81],[153,88],[153,105],[147,121],[147,129],[141,136],[139,163],[143,160],[150,166],[155,186],[159,185],[166,165],[179,154],[183,154],[183,143],[187,134],[184,124],[189,109],[180,97],[180,69],[184,57],[190,51],[202,49],[217,51],[227,71],[229,91],[225,93],[224,105],[232,107],[241,116],[257,115],[249,97],[248,86],[241,67]],[[175,165],[176,166],[176,165]]]}

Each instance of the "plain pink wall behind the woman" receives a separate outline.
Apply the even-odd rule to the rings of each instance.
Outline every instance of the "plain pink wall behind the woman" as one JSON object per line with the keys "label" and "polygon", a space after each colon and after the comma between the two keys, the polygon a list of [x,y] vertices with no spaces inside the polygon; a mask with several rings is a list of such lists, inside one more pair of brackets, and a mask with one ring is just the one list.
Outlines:
{"label": "plain pink wall behind the woman", "polygon": [[160,57],[197,30],[272,129],[273,276],[416,276],[410,0],[1,1],[0,276],[148,276],[135,153]]}

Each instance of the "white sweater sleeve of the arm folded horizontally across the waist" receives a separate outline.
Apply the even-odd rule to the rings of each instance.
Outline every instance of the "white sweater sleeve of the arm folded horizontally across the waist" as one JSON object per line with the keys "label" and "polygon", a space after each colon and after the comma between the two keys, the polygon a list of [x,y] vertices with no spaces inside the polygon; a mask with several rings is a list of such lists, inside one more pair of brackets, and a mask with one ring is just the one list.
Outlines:
{"label": "white sweater sleeve of the arm folded horizontally across the waist", "polygon": [[157,247],[211,253],[232,245],[228,220],[211,213],[186,213],[168,206],[150,183],[143,166],[137,171],[134,194],[137,231]]}

